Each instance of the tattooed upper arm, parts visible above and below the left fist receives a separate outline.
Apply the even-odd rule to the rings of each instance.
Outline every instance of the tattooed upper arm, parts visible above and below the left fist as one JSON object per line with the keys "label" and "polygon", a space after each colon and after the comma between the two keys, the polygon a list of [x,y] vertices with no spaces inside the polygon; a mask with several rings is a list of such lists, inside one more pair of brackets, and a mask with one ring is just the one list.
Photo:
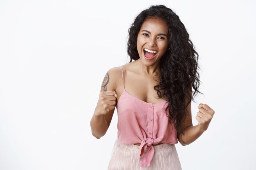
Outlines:
{"label": "tattooed upper arm, parts visible above and below the left fist", "polygon": [[[103,78],[101,84],[101,92],[102,91],[116,91],[116,84],[117,84],[117,67],[111,68],[107,71],[106,75]],[[115,108],[113,110],[109,110],[108,113],[104,115],[108,127],[110,126]]]}

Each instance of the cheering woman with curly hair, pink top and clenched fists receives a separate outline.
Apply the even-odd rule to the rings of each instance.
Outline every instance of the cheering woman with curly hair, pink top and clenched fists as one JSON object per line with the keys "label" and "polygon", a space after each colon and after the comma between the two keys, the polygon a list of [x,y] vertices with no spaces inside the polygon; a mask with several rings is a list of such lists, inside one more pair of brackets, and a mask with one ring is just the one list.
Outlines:
{"label": "cheering woman with curly hair, pink top and clenched fists", "polygon": [[198,125],[193,126],[198,53],[179,17],[157,5],[135,18],[128,55],[128,64],[106,73],[90,122],[92,135],[100,139],[117,108],[118,135],[108,170],[181,170],[175,144],[195,141],[214,114],[207,104],[200,104]]}

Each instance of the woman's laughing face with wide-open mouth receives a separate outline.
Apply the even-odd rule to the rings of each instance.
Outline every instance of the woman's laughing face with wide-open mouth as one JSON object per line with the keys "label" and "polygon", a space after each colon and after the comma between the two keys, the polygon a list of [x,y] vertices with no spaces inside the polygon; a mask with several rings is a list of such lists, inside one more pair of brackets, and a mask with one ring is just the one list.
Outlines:
{"label": "woman's laughing face with wide-open mouth", "polygon": [[168,28],[160,18],[148,18],[139,30],[137,50],[140,60],[147,64],[158,63],[168,47]]}

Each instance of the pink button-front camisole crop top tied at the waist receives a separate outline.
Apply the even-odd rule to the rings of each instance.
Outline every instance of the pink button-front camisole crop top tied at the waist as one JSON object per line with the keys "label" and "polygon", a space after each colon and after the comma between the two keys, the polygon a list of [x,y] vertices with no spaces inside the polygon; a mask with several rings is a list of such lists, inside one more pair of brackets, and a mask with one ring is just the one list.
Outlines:
{"label": "pink button-front camisole crop top tied at the waist", "polygon": [[[119,66],[121,68],[121,66]],[[124,71],[121,68],[124,88]],[[123,144],[141,143],[137,159],[139,166],[148,167],[154,156],[152,144],[177,144],[177,131],[165,113],[167,101],[156,104],[144,102],[125,91],[117,102],[117,138]]]}

